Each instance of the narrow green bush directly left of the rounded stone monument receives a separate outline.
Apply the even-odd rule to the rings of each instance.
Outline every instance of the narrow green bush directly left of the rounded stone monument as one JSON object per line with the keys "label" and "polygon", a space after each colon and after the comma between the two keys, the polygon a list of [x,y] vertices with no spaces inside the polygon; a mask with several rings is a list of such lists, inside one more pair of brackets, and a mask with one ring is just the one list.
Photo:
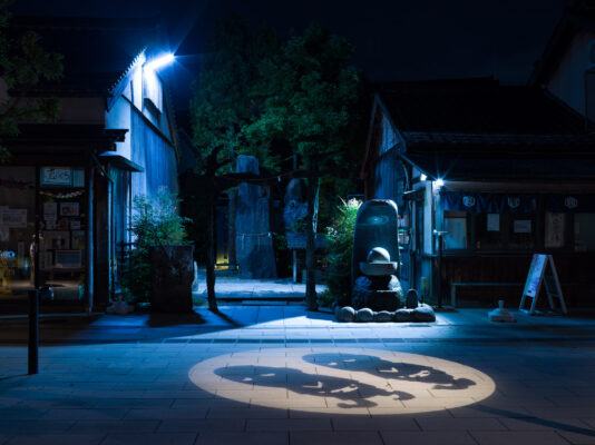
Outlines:
{"label": "narrow green bush directly left of the rounded stone monument", "polygon": [[355,217],[361,201],[350,199],[338,206],[338,212],[332,224],[326,227],[328,253],[324,257],[326,269],[326,286],[329,291],[321,295],[319,304],[331,306],[338,300],[347,303],[351,300],[351,254],[353,251],[353,230]]}

